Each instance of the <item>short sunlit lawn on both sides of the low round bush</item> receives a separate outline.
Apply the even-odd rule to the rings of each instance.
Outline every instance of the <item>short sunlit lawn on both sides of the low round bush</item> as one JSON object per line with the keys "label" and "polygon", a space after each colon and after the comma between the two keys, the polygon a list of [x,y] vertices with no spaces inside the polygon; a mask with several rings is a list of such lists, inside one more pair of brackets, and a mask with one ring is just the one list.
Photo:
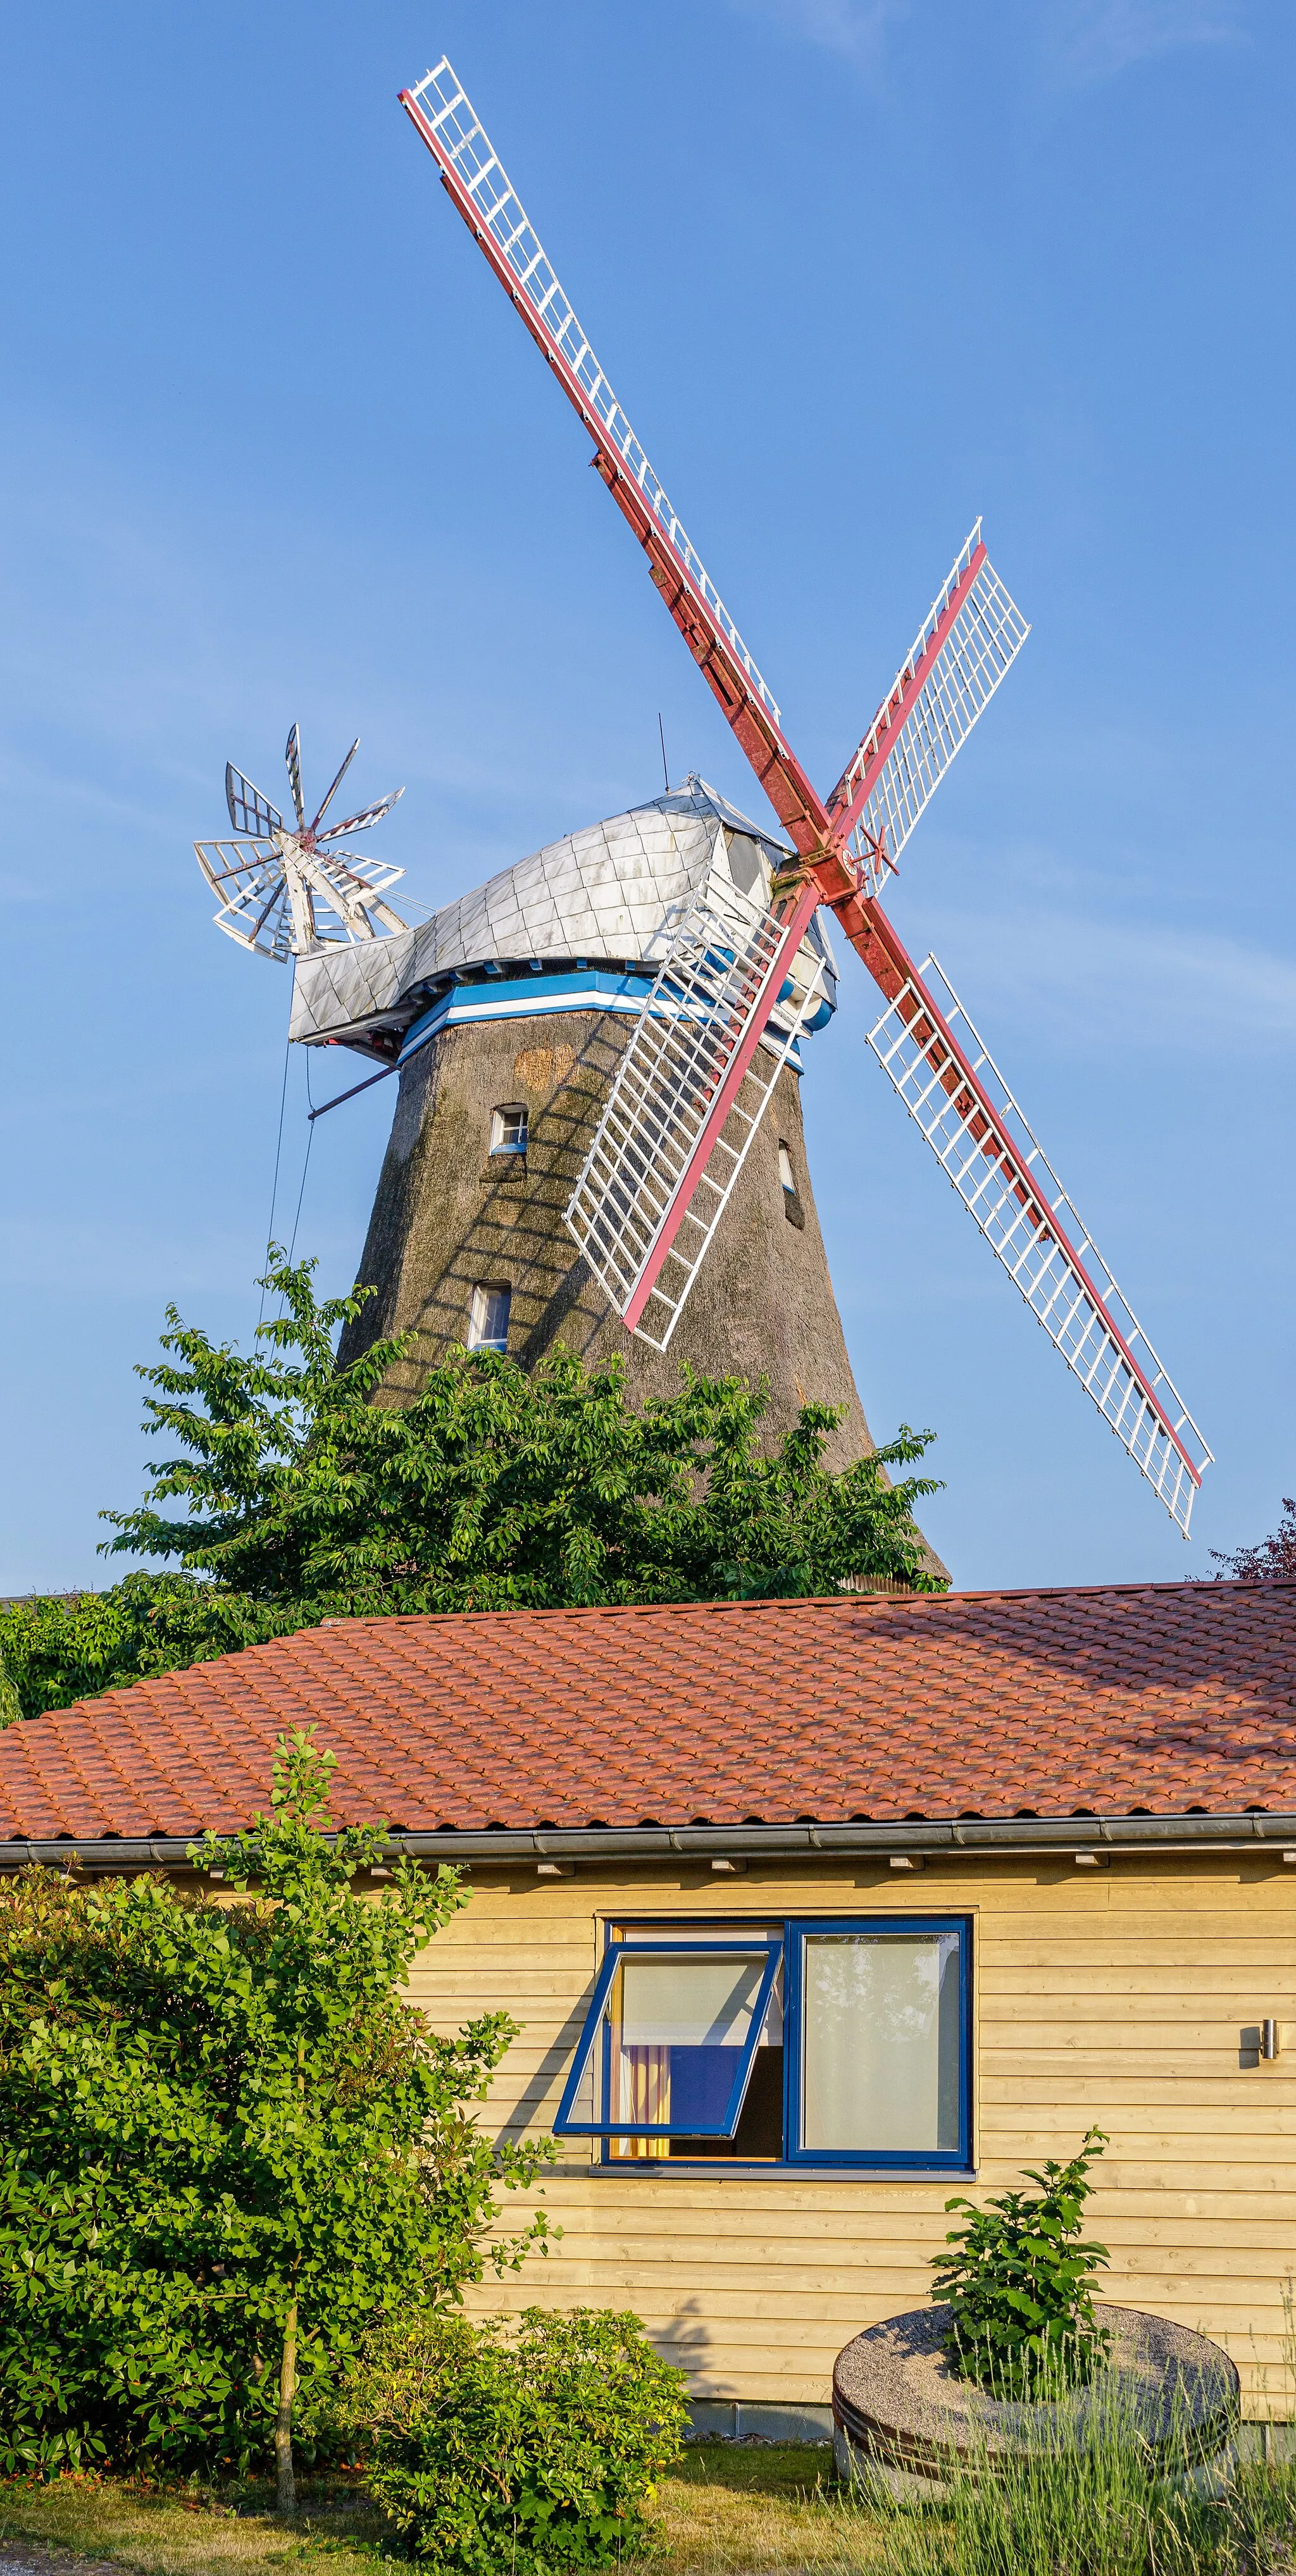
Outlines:
{"label": "short sunlit lawn on both sides of the low round bush", "polygon": [[[868,2566],[871,2517],[840,2501],[827,2445],[698,2442],[657,2488],[665,2555],[652,2576],[745,2576]],[[301,2481],[299,2517],[273,2514],[271,2488],[149,2491],[119,2478],[0,2483],[0,2561],[28,2550],[137,2568],[139,2576],[253,2576],[309,2568],[374,2576],[381,2517],[340,2481]],[[368,2548],[366,2548],[368,2543]]]}

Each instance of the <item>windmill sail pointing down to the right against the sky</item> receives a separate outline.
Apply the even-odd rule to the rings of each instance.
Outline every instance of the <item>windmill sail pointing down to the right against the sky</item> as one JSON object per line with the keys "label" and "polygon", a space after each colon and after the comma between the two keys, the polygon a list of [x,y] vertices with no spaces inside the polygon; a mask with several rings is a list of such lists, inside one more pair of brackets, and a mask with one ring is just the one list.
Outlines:
{"label": "windmill sail pointing down to the right against the sky", "polygon": [[1188,1538],[1211,1450],[935,958],[868,1043],[1036,1324]]}

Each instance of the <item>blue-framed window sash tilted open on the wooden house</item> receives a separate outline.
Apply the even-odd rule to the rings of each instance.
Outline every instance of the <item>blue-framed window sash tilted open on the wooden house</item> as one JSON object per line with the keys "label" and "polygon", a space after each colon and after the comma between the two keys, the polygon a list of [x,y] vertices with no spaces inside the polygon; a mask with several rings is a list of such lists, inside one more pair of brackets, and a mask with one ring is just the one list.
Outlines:
{"label": "blue-framed window sash tilted open on the wooden house", "polygon": [[770,2014],[778,1935],[611,1942],[559,2138],[732,2138]]}

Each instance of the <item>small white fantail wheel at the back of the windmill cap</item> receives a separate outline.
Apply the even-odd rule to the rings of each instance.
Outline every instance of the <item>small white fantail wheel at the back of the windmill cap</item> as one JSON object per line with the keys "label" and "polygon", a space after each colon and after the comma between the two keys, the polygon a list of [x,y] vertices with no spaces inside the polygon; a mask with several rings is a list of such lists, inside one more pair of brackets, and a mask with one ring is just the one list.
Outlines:
{"label": "small white fantail wheel at the back of the windmill cap", "polygon": [[343,778],[361,750],[361,737],[332,781],[314,822],[307,822],[301,801],[301,732],[294,724],[283,747],[296,829],[283,822],[278,806],[253,786],[232,760],[224,765],[224,801],[237,840],[196,840],[193,855],[219,899],[216,930],[224,930],[240,948],[255,956],[286,958],[309,956],[319,945],[350,945],[353,940],[381,938],[405,930],[405,920],[389,902],[386,889],[405,876],[405,868],[384,868],[381,860],[356,858],[340,842],[348,832],[371,832],[392,811],[405,788],[379,796],[379,804],[361,806],[345,822],[319,829],[325,814],[343,786]]}

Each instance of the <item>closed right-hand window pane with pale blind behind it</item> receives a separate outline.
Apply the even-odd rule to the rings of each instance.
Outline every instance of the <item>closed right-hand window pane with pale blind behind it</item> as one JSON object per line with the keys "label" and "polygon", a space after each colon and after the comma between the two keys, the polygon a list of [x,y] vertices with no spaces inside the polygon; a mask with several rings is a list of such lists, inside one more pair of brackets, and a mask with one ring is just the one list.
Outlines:
{"label": "closed right-hand window pane with pale blind behind it", "polygon": [[806,1932],[801,2146],[958,2151],[958,1935]]}

